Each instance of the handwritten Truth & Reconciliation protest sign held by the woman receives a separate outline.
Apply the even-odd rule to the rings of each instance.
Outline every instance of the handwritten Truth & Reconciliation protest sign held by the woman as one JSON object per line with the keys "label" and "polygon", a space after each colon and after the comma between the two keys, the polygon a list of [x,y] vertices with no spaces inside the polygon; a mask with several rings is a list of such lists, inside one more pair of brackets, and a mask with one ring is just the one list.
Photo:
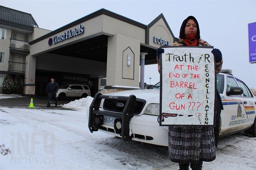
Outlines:
{"label": "handwritten Truth & Reconciliation protest sign held by the woman", "polygon": [[214,126],[213,47],[162,46],[159,124]]}

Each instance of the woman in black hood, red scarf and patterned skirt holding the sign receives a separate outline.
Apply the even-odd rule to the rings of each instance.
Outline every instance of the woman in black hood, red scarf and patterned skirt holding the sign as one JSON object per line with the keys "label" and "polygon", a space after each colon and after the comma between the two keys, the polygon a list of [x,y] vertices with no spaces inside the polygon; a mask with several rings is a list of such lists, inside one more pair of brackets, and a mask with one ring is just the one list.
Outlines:
{"label": "woman in black hood, red scarf and patterned skirt holding the sign", "polygon": [[[183,21],[179,39],[179,42],[173,43],[171,46],[210,46],[200,38],[199,24],[193,16],[189,16]],[[213,49],[211,52],[215,56],[216,72],[218,74],[222,68],[222,54],[218,49]],[[159,73],[160,53],[164,53],[164,49],[157,49]],[[216,127],[218,126],[221,109],[223,109],[222,101],[217,89],[215,89]],[[192,170],[201,170],[203,161],[210,162],[216,158],[213,127],[169,126],[168,139],[170,160],[179,163],[180,170],[188,170],[189,165]]]}

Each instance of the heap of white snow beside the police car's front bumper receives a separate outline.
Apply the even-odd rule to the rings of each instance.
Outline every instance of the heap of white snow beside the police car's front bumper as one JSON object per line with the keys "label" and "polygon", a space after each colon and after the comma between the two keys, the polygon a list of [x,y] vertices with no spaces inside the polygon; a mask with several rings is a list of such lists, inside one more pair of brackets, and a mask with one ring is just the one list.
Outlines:
{"label": "heap of white snow beside the police car's front bumper", "polygon": [[90,108],[92,101],[93,101],[93,97],[87,96],[86,98],[80,98],[79,100],[74,100],[67,104],[64,104],[62,105],[62,107],[87,112],[87,109]]}

